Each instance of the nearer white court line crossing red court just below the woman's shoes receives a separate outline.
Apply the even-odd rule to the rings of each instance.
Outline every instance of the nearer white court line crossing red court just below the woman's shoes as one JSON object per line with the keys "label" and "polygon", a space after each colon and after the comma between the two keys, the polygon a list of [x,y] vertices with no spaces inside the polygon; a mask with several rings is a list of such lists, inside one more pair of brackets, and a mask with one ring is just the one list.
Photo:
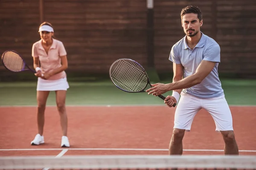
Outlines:
{"label": "nearer white court line crossing red court just below the woman's shoes", "polygon": [[[62,150],[63,155],[67,150],[140,150],[140,151],[168,151],[168,149],[140,149],[140,148],[69,148],[64,151],[60,148],[38,148],[38,149],[0,149],[0,151],[35,151],[35,150]],[[224,150],[215,149],[183,149],[183,151],[197,151],[197,152],[223,152]],[[239,152],[256,152],[256,150],[239,150]],[[59,155],[61,154],[59,153]],[[58,156],[58,155],[57,155]],[[62,155],[61,155],[62,156]]]}

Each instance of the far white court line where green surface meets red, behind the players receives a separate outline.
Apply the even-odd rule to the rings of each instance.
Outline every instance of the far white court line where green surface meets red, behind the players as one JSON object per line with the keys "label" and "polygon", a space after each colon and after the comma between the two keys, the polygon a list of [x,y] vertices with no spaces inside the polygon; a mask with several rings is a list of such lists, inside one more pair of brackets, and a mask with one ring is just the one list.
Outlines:
{"label": "far white court line where green surface meets red, behind the players", "polygon": [[[166,105],[66,105],[66,107],[166,107]],[[256,105],[229,105],[230,107],[256,107]],[[35,108],[37,105],[0,105],[0,108]],[[47,107],[56,107],[56,105],[47,105]]]}

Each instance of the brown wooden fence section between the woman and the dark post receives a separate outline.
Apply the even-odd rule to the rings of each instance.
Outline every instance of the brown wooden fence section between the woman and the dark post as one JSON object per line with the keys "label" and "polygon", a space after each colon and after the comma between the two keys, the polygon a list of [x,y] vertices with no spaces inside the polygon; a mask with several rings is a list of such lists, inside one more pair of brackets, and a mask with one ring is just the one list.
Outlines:
{"label": "brown wooden fence section between the woman and the dark post", "polygon": [[61,41],[71,59],[70,71],[108,71],[113,61],[123,57],[145,60],[144,0],[61,0],[53,3],[45,0],[44,3],[45,18],[53,24],[56,36],[65,34],[67,37],[62,37]]}

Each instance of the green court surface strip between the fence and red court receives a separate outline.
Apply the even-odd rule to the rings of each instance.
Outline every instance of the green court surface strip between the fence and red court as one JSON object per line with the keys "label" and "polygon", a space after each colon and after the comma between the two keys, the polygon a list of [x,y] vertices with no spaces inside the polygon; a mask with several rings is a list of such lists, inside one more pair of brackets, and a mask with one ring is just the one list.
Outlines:
{"label": "green court surface strip between the fence and red court", "polygon": [[[168,81],[162,81],[168,83]],[[35,82],[1,82],[0,106],[37,105]],[[229,105],[256,105],[256,80],[221,79]],[[102,82],[69,82],[67,105],[164,105],[159,97],[147,93],[127,93],[116,88],[110,80]],[[165,96],[171,95],[167,92]],[[47,105],[55,105],[51,92]]]}

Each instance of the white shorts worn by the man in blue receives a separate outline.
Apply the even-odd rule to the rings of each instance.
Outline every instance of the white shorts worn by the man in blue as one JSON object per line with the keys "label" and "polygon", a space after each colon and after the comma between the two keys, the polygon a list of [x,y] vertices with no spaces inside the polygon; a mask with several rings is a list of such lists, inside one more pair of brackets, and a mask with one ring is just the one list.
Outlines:
{"label": "white shorts worn by the man in blue", "polygon": [[198,111],[204,108],[214,119],[216,131],[233,130],[233,120],[225,96],[201,99],[181,93],[175,111],[174,128],[190,131],[193,119]]}

